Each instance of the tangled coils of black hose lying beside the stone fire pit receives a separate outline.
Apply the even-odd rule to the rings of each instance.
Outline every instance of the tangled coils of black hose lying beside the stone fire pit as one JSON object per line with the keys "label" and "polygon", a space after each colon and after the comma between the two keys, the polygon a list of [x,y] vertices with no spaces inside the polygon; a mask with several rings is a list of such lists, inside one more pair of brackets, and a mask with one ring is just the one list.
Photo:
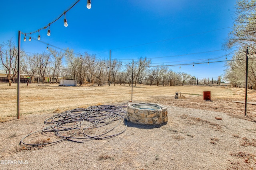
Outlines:
{"label": "tangled coils of black hose lying beside the stone fire pit", "polygon": [[[21,139],[20,144],[41,146],[52,145],[64,140],[83,143],[86,140],[115,137],[127,128],[127,121],[124,119],[126,111],[123,107],[126,105],[100,105],[58,113],[44,121],[50,126],[26,135]],[[122,121],[124,124],[121,123]],[[48,139],[38,141],[38,138],[40,139],[38,133]],[[53,142],[50,141],[51,135],[56,138]]]}

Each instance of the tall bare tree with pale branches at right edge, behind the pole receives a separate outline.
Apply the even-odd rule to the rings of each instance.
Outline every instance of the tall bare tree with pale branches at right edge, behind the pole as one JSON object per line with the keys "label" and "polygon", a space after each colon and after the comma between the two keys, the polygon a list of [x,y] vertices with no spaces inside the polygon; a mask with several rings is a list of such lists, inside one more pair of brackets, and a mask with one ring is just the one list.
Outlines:
{"label": "tall bare tree with pale branches at right edge, behind the pole", "polygon": [[224,78],[234,86],[245,86],[246,47],[249,47],[248,86],[256,90],[256,1],[238,0],[236,4],[236,19],[232,31],[228,35],[226,47],[239,47],[233,55],[233,61],[228,62]]}

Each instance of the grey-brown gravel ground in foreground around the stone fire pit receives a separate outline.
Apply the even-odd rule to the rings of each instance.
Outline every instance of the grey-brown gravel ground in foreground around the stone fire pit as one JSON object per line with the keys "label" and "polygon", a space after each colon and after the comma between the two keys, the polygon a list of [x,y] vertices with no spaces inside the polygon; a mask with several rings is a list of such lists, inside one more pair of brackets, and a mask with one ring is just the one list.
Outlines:
{"label": "grey-brown gravel ground in foreground around the stone fire pit", "polygon": [[30,149],[19,145],[22,137],[47,126],[44,120],[53,113],[0,123],[0,169],[256,169],[255,122],[227,111],[162,105],[168,107],[167,124],[128,123],[121,135],[84,143],[63,141]]}

